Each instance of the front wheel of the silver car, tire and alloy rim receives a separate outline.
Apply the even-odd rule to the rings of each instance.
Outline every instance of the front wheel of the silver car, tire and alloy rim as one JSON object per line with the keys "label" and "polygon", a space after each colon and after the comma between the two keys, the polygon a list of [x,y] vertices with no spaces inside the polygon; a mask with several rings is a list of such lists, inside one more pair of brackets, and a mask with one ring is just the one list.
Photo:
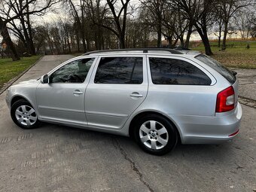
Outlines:
{"label": "front wheel of the silver car, tire and alloy rim", "polygon": [[11,106],[11,118],[21,128],[28,130],[38,127],[39,120],[35,109],[26,100],[18,100]]}

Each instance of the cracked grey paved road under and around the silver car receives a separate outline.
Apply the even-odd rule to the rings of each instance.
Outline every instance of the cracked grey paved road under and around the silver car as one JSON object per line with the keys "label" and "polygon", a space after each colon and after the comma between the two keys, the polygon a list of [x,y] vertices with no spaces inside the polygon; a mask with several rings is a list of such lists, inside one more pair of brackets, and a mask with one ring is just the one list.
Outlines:
{"label": "cracked grey paved road under and around the silver car", "polygon": [[[19,81],[71,56],[44,56]],[[129,138],[44,124],[21,130],[0,96],[0,191],[256,191],[256,109],[223,145],[178,145],[163,157]]]}

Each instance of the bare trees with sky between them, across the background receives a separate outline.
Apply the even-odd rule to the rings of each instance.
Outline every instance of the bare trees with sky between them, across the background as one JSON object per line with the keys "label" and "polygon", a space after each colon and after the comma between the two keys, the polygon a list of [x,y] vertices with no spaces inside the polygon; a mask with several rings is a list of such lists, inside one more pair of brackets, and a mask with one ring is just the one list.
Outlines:
{"label": "bare trees with sky between them, across the background", "polygon": [[[190,46],[197,33],[225,50],[227,36],[256,38],[255,0],[1,0],[0,33],[14,60],[23,53],[75,53],[130,47]],[[56,20],[35,24],[49,12]],[[35,17],[37,16],[37,17]],[[15,38],[14,38],[15,37]],[[14,41],[15,40],[15,44]]]}

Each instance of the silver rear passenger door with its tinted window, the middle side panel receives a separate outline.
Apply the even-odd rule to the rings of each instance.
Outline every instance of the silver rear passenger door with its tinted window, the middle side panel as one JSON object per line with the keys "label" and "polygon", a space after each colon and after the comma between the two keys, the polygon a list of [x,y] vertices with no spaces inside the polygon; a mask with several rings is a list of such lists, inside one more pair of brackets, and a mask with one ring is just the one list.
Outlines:
{"label": "silver rear passenger door with its tinted window, the middle side panel", "polygon": [[85,94],[88,126],[120,129],[148,93],[143,56],[101,56]]}

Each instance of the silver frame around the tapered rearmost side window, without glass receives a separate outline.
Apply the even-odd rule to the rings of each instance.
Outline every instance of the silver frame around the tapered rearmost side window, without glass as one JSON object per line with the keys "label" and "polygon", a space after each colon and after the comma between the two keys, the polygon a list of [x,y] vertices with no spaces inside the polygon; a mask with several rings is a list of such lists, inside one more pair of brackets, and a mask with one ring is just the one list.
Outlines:
{"label": "silver frame around the tapered rearmost side window, without glass", "polygon": [[[211,84],[209,85],[197,85],[197,84],[154,84],[152,81],[152,75],[151,75],[151,68],[150,68],[150,63],[149,63],[149,58],[154,57],[154,58],[163,58],[163,59],[180,59],[183,60],[185,62],[189,62],[191,65],[197,67],[198,69],[200,69],[203,73],[205,73],[210,80],[212,81]],[[203,66],[201,66],[199,63],[195,62],[192,59],[188,59],[186,57],[182,57],[182,56],[160,56],[160,55],[154,55],[154,54],[148,54],[147,55],[147,67],[148,67],[148,83],[151,85],[155,85],[155,86],[213,86],[217,83],[216,79],[213,77],[213,75],[207,70],[205,69]]]}

